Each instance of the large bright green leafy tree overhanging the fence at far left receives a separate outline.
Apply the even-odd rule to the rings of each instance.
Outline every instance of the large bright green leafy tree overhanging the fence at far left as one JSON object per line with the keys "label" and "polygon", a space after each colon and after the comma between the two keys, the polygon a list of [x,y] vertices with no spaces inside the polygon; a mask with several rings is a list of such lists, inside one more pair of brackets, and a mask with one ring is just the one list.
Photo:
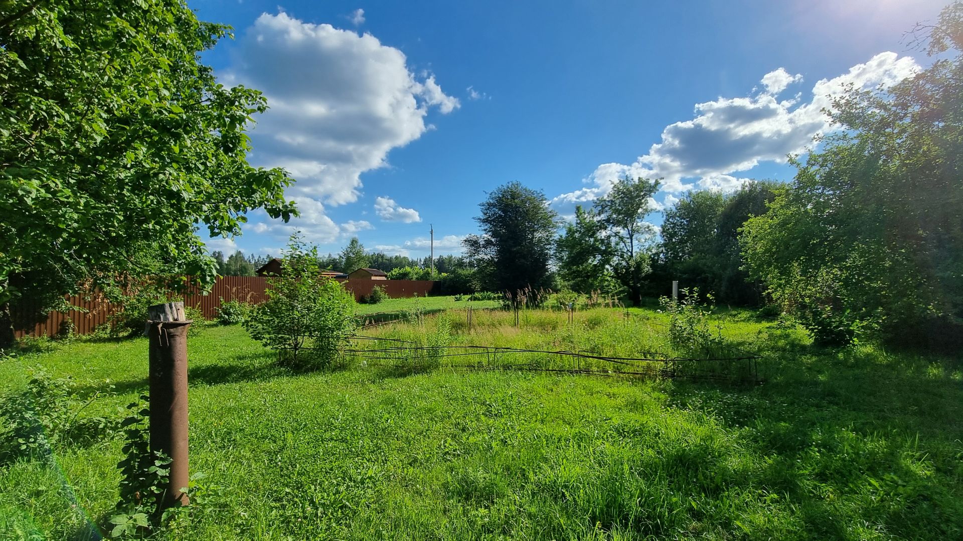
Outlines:
{"label": "large bright green leafy tree overhanging the fence at far left", "polygon": [[0,347],[19,298],[207,285],[195,224],[230,236],[250,210],[294,214],[285,172],[247,164],[264,97],[199,62],[227,31],[182,0],[0,4]]}

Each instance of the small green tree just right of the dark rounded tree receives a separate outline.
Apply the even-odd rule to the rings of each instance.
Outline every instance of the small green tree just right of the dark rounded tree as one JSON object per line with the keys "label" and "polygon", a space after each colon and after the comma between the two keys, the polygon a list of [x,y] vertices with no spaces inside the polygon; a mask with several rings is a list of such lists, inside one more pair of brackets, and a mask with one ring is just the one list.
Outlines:
{"label": "small green tree just right of the dark rounded tree", "polygon": [[572,291],[589,293],[607,286],[614,254],[606,224],[594,210],[575,207],[575,219],[565,224],[555,250],[559,277]]}

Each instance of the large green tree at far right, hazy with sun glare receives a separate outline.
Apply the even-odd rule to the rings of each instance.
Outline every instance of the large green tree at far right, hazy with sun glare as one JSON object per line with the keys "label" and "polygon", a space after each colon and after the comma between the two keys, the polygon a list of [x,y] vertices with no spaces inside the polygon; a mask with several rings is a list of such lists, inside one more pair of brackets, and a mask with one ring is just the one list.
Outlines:
{"label": "large green tree at far right, hazy with sun glare", "polygon": [[748,269],[822,341],[963,334],[963,2],[928,37],[942,58],[835,100],[846,131],[796,162],[789,189],[745,225]]}

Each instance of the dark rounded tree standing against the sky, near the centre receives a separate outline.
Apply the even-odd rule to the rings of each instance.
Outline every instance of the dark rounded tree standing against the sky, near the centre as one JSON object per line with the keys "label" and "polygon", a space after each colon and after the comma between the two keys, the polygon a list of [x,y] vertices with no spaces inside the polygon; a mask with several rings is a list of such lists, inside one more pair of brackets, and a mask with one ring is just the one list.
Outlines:
{"label": "dark rounded tree standing against the sky, near the centre", "polygon": [[557,217],[545,194],[514,181],[479,206],[481,235],[469,235],[463,244],[482,289],[507,292],[517,302],[522,290],[550,286]]}

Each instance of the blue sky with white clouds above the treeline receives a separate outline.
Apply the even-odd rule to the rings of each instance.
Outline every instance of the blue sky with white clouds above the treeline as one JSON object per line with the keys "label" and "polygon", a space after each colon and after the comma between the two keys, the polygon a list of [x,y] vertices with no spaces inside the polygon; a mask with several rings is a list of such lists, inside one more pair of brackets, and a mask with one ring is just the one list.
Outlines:
{"label": "blue sky with white clouds above the treeline", "polygon": [[[788,180],[789,152],[833,128],[842,85],[926,64],[903,33],[943,0],[785,2],[191,2],[235,39],[205,53],[263,90],[252,164],[285,167],[302,217],[251,213],[211,249],[323,251],[351,236],[412,257],[457,253],[485,192],[512,180],[561,215],[625,173],[686,190]],[[659,224],[659,213],[651,221]]]}

